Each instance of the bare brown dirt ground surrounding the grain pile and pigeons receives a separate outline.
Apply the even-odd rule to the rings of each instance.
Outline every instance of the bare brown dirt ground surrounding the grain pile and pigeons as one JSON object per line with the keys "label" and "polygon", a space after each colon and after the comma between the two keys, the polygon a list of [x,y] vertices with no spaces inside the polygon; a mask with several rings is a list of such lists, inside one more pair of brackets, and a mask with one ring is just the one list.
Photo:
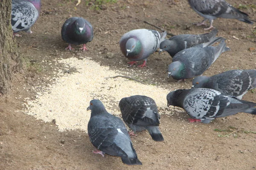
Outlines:
{"label": "bare brown dirt ground surrounding the grain pile and pigeons", "polygon": [[[228,0],[238,7],[256,5],[255,0]],[[17,75],[12,94],[1,98],[0,108],[0,169],[1,170],[253,170],[256,168],[256,117],[238,113],[210,124],[189,123],[185,112],[177,115],[162,114],[160,129],[164,142],[154,142],[146,132],[132,138],[134,148],[143,166],[128,166],[120,158],[93,154],[93,145],[81,130],[59,132],[54,122],[44,123],[23,114],[23,101],[35,97],[54,79],[48,79],[61,69],[55,59],[91,57],[115,71],[136,71],[134,77],[165,87],[190,88],[191,79],[180,82],[167,79],[166,68],[171,63],[169,54],[157,53],[148,59],[148,68],[127,67],[128,60],[119,50],[119,39],[127,31],[137,28],[156,29],[143,21],[160,26],[172,34],[203,34],[203,27],[193,26],[202,20],[186,0],[124,0],[94,10],[84,1],[75,8],[69,0],[43,0],[41,16],[32,27],[33,34],[21,33],[17,38],[26,70]],[[243,8],[256,20],[256,9]],[[71,16],[90,21],[95,34],[88,43],[89,51],[66,51],[61,40],[61,26]],[[214,26],[218,36],[227,39],[231,51],[221,54],[204,75],[214,75],[231,69],[256,69],[255,24],[237,20],[217,19]],[[233,37],[237,37],[236,40]],[[169,37],[168,37],[169,38]],[[106,53],[114,54],[113,58]],[[44,62],[42,62],[44,61]],[[65,71],[65,70],[63,70]],[[75,70],[70,70],[72,73]],[[68,74],[68,73],[67,73]],[[92,75],[93,76],[93,75]],[[51,80],[51,81],[50,81]],[[26,88],[23,88],[26,84]],[[36,88],[32,88],[36,87]],[[249,91],[243,98],[256,102]],[[70,101],[72,102],[72,101]],[[214,129],[230,130],[228,132]],[[221,136],[222,135],[222,136]],[[225,137],[227,135],[227,137]]]}

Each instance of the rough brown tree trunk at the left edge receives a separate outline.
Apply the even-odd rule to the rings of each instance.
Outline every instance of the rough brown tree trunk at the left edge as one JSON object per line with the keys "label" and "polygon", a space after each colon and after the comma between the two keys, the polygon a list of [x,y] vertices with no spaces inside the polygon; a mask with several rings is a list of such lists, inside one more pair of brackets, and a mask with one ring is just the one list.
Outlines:
{"label": "rough brown tree trunk at the left edge", "polygon": [[12,0],[0,0],[0,94],[11,90],[13,76],[22,68],[17,42],[12,38],[11,11]]}

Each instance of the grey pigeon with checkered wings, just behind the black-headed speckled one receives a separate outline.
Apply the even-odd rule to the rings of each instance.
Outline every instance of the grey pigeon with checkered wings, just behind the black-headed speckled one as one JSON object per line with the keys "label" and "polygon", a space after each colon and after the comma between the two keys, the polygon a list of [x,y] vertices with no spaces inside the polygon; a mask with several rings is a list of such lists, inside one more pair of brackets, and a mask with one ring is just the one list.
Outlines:
{"label": "grey pigeon with checkered wings, just behind the black-headed speckled one", "polygon": [[242,99],[247,91],[256,88],[256,70],[230,70],[212,77],[198,76],[193,88],[211,88]]}

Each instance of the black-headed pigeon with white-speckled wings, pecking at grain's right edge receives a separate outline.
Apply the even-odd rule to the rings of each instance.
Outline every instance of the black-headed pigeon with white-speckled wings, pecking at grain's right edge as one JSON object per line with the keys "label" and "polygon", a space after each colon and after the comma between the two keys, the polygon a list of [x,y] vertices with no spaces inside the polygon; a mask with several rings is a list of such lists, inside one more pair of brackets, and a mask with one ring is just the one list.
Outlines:
{"label": "black-headed pigeon with white-speckled wings, pecking at grain's right edge", "polygon": [[218,117],[239,112],[256,114],[256,103],[239,100],[234,96],[210,88],[192,88],[172,91],[167,95],[167,105],[183,108],[190,122],[209,123]]}

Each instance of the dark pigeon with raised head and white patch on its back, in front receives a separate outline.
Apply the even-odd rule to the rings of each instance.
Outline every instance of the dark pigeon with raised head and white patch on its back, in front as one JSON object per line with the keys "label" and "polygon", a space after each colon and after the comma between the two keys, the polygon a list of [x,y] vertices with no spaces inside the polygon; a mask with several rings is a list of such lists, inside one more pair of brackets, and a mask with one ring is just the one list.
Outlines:
{"label": "dark pigeon with raised head and white patch on its back, in front", "polygon": [[128,165],[142,165],[122,120],[108,113],[102,102],[97,99],[90,101],[88,110],[91,110],[88,135],[90,142],[98,149],[93,153],[99,153],[103,157],[104,153],[119,156],[122,162]]}

